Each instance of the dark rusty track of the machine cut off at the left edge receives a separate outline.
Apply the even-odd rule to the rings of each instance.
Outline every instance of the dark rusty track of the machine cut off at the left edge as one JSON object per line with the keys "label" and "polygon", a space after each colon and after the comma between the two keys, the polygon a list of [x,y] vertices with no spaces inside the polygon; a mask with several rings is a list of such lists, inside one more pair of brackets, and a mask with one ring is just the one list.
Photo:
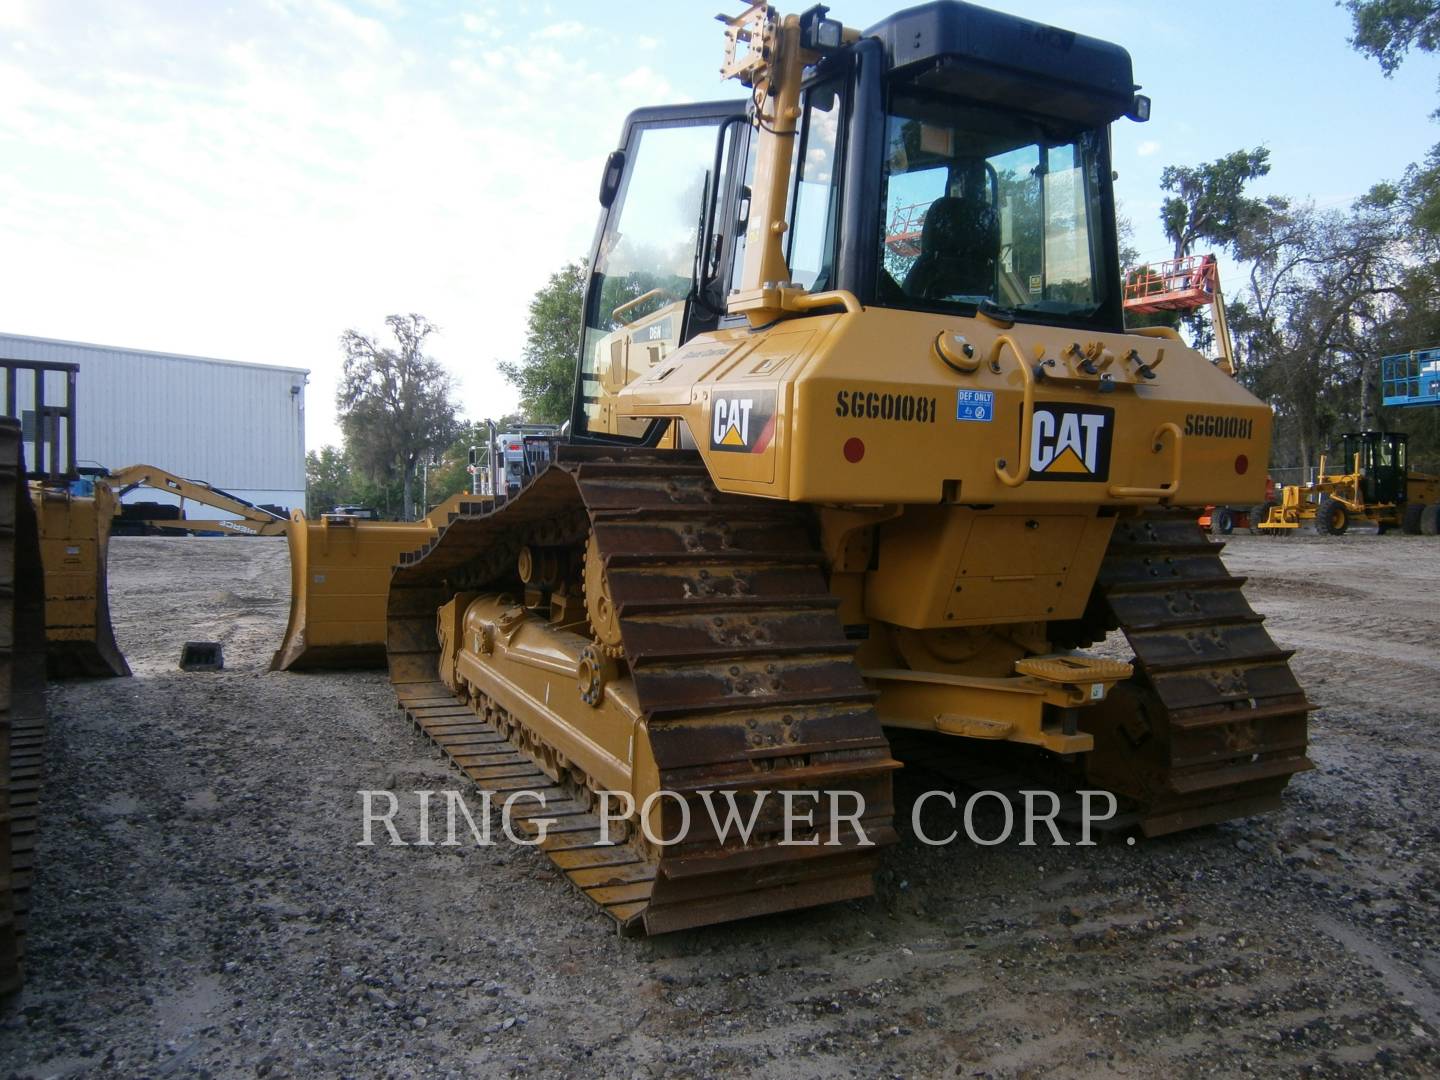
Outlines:
{"label": "dark rusty track of the machine cut off at the left edge", "polygon": [[20,425],[0,419],[0,994],[23,976],[45,749],[45,592]]}

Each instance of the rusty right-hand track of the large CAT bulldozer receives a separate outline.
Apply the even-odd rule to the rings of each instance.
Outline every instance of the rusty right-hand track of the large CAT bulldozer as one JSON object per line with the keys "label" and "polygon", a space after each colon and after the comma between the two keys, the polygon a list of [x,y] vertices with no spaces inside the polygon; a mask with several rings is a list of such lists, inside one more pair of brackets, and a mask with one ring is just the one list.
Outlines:
{"label": "rusty right-hand track of the large CAT bulldozer", "polygon": [[1274,809],[1290,776],[1312,768],[1312,706],[1292,652],[1270,638],[1223,549],[1192,513],[1122,520],[1092,598],[1092,635],[1123,631],[1135,675],[1081,710],[1096,737],[1086,779],[1133,801],[1146,835]]}

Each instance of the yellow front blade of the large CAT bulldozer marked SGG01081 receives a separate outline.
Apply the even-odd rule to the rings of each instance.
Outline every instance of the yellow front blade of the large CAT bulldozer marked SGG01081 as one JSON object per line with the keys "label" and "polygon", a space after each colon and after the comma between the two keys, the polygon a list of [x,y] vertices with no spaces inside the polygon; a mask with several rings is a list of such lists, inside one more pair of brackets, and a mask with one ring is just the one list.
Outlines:
{"label": "yellow front blade of the large CAT bulldozer marked SGG01081", "polygon": [[384,599],[403,552],[435,539],[441,523],[488,500],[456,495],[419,521],[291,514],[289,622],[271,671],[384,667]]}

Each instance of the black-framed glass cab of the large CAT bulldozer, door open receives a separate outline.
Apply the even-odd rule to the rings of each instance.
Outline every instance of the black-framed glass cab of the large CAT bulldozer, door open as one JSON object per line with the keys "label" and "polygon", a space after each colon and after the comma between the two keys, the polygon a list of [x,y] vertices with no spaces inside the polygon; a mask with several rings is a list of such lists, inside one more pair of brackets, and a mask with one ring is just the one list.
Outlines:
{"label": "black-framed glass cab of the large CAT bulldozer, door open", "polygon": [[1125,49],[958,1],[827,40],[812,9],[786,69],[766,19],[727,20],[750,99],[639,109],[606,161],[575,441],[655,445],[668,422],[611,397],[782,294],[1123,330],[1109,125],[1149,115]]}

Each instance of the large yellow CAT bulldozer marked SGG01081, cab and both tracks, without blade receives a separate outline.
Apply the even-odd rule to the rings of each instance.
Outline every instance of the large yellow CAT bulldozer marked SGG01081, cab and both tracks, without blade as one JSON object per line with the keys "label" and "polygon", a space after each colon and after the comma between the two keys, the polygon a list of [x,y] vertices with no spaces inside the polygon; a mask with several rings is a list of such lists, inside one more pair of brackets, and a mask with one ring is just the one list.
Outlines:
{"label": "large yellow CAT bulldozer marked SGG01081, cab and both tracks, without blade", "polygon": [[[1007,752],[1152,835],[1273,808],[1308,703],[1195,524],[1263,497],[1272,413],[1125,331],[1129,55],[955,1],[724,23],[747,96],[605,164],[552,464],[395,570],[406,716],[629,932],[868,894],[904,762]],[[1116,628],[1133,664],[1077,651]]]}

